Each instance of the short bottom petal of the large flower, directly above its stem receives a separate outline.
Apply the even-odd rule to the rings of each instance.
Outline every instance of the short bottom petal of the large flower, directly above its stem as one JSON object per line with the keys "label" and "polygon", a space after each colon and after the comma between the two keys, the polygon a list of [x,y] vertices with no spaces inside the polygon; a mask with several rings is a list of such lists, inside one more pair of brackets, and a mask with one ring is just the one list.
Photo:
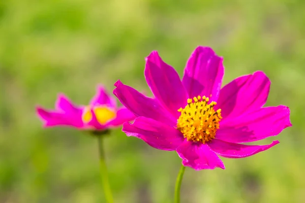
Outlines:
{"label": "short bottom petal of the large flower, directly above its stem", "polygon": [[205,144],[186,141],[176,151],[182,159],[182,164],[195,170],[216,167],[225,169],[222,160]]}

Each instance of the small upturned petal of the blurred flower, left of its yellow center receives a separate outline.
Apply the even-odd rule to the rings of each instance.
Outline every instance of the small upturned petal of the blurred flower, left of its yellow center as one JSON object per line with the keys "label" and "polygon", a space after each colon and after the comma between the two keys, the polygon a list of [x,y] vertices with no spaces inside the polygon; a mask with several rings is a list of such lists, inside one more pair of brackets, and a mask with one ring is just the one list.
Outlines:
{"label": "small upturned petal of the blurred flower, left of its yellow center", "polygon": [[62,93],[60,93],[57,97],[55,109],[70,114],[81,112],[81,108],[74,105],[72,101],[70,101],[70,99]]}

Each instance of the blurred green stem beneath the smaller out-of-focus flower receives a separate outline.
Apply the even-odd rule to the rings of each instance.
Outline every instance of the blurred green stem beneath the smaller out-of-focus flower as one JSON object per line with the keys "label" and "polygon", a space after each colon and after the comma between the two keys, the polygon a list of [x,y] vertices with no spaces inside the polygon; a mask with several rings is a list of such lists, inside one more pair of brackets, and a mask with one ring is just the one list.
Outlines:
{"label": "blurred green stem beneath the smaller out-of-focus flower", "polygon": [[103,149],[104,136],[100,135],[97,137],[98,137],[99,154],[100,154],[100,172],[101,172],[101,179],[102,179],[103,189],[104,189],[104,193],[105,193],[105,198],[108,203],[113,203],[113,198],[112,198],[109,179],[108,179],[104,149]]}

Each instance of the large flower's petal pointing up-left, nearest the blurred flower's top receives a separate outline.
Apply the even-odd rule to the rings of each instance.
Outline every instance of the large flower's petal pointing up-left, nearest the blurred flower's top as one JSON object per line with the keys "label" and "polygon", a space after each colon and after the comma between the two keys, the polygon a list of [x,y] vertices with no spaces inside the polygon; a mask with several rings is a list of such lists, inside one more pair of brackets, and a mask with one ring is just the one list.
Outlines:
{"label": "large flower's petal pointing up-left, nearest the blurred flower's top", "polygon": [[119,80],[114,85],[116,88],[113,94],[136,116],[144,116],[171,126],[176,125],[177,120],[158,103],[158,100],[144,96]]}

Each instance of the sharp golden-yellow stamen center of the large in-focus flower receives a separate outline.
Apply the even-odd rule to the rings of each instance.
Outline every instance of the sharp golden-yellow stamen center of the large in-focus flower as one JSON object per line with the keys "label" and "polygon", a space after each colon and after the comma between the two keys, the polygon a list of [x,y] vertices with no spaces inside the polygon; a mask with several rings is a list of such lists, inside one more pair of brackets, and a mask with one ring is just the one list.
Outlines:
{"label": "sharp golden-yellow stamen center of the large in-focus flower", "polygon": [[215,138],[219,129],[221,109],[214,110],[215,101],[208,104],[209,98],[197,96],[188,99],[188,105],[182,109],[177,122],[177,129],[182,132],[188,141],[206,143]]}

